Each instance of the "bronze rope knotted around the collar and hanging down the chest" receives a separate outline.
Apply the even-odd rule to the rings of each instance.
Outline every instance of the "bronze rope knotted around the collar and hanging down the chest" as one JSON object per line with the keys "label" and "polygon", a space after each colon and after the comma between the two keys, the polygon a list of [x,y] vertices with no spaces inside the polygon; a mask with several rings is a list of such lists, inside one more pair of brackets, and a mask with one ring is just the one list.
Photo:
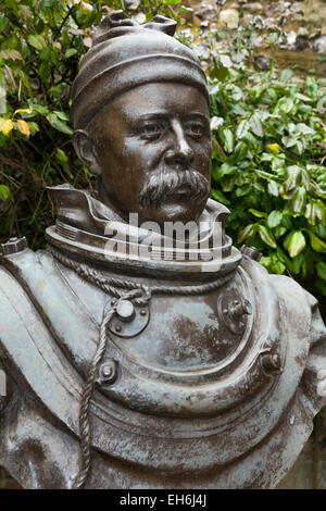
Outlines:
{"label": "bronze rope knotted around the collar and hanging down the chest", "polygon": [[[100,289],[109,294],[111,297],[117,298],[116,302],[106,303],[100,326],[99,344],[95,356],[90,362],[83,398],[79,410],[79,438],[80,438],[80,469],[73,483],[72,489],[80,489],[86,483],[91,465],[91,428],[89,408],[92,398],[96,378],[101,360],[105,353],[108,339],[108,326],[115,314],[116,307],[121,300],[130,300],[134,304],[143,307],[150,302],[153,295],[174,295],[174,296],[196,296],[213,291],[229,282],[234,272],[224,275],[209,284],[200,284],[197,286],[145,286],[133,281],[126,281],[116,277],[106,277],[93,267],[68,259],[52,246],[48,246],[48,250],[64,266],[75,271],[82,278],[97,285]],[[110,297],[110,298],[111,298]]]}

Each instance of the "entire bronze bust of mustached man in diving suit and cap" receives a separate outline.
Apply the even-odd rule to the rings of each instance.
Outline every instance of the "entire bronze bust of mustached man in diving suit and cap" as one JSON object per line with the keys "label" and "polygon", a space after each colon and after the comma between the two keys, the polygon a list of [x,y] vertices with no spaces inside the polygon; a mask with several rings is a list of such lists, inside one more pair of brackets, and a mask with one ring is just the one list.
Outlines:
{"label": "entire bronze bust of mustached man in diving suit and cap", "polygon": [[206,78],[174,30],[102,21],[71,113],[98,194],[50,188],[47,249],[2,246],[0,465],[25,488],[273,488],[326,404],[316,300],[209,199]]}

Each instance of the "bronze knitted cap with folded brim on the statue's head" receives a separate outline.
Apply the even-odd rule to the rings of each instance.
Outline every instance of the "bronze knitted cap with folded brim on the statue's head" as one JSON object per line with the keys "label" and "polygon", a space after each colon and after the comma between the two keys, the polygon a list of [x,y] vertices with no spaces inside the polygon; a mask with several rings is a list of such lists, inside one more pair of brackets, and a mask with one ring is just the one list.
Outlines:
{"label": "bronze knitted cap with folded brim on the statue's head", "polygon": [[164,16],[138,25],[122,11],[105,16],[91,49],[83,57],[72,89],[71,122],[83,129],[109,101],[153,82],[177,82],[200,89],[209,101],[206,78],[192,51],[173,35],[176,23]]}

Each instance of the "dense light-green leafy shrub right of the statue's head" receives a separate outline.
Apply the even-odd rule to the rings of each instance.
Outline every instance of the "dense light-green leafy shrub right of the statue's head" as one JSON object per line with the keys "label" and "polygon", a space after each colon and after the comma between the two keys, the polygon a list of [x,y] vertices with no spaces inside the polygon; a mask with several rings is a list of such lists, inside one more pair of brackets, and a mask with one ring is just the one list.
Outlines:
{"label": "dense light-green leafy shrub right of the statue's head", "polygon": [[225,71],[211,88],[212,196],[231,205],[228,233],[326,296],[326,80]]}

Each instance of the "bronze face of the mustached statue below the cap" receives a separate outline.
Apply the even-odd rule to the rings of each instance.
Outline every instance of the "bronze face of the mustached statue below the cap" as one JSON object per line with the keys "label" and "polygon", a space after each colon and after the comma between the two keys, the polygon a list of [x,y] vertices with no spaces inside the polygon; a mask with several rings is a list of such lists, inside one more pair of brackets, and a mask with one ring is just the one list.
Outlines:
{"label": "bronze face of the mustached statue below the cap", "polygon": [[210,194],[209,107],[176,83],[124,92],[91,122],[101,170],[99,198],[125,220],[196,221]]}

